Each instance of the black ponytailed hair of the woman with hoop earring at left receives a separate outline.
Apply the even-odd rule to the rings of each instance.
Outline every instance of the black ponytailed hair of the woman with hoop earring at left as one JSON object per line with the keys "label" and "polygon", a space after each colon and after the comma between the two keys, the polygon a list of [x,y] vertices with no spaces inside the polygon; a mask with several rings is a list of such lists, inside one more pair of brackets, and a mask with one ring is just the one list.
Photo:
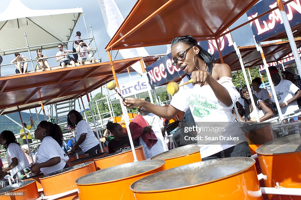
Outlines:
{"label": "black ponytailed hair of the woman with hoop earring at left", "polygon": [[42,128],[46,129],[46,134],[51,136],[57,143],[63,145],[63,133],[61,127],[57,124],[52,124],[50,121],[41,121],[39,124]]}

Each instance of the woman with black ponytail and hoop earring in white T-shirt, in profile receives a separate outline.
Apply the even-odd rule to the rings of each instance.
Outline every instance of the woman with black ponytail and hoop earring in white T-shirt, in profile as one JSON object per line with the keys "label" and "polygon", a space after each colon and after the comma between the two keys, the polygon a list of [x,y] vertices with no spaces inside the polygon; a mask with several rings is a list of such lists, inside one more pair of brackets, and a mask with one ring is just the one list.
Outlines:
{"label": "woman with black ponytail and hoop earring in white T-shirt, in profile", "polygon": [[35,130],[35,138],[41,141],[36,161],[38,164],[31,169],[33,173],[51,172],[64,169],[69,157],[62,150],[63,133],[59,125],[49,121],[41,121]]}

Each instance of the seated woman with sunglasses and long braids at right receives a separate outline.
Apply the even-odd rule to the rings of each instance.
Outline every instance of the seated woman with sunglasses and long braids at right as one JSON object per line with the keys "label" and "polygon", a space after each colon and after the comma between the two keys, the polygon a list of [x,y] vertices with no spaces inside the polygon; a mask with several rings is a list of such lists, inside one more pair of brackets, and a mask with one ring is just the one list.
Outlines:
{"label": "seated woman with sunglasses and long braids at right", "polygon": [[[246,112],[245,121],[256,121],[257,113],[260,122],[265,121],[274,115],[273,111],[268,106],[266,106],[262,100],[260,100],[256,97],[256,95],[253,94],[253,90],[249,93],[247,86],[244,86],[242,88],[242,94],[244,95],[244,108]],[[253,95],[256,109],[253,108],[250,94]]]}

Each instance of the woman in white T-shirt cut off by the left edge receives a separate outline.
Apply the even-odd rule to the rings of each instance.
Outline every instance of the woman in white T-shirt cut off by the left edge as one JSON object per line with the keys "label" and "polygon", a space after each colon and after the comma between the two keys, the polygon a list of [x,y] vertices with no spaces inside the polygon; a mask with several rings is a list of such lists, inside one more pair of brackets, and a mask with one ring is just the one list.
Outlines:
{"label": "woman in white T-shirt cut off by the left edge", "polygon": [[10,130],[2,131],[0,134],[0,144],[7,150],[8,167],[0,171],[0,180],[10,171],[11,176],[14,176],[19,170],[29,166],[26,155],[17,142],[14,133]]}

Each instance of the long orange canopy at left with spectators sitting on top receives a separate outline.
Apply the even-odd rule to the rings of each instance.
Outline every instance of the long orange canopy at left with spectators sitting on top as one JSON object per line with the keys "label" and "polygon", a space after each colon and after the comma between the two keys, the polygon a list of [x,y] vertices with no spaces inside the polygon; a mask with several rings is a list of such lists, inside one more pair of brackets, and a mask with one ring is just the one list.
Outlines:
{"label": "long orange canopy at left with spectators sitting on top", "polygon": [[[148,56],[151,64],[159,56]],[[116,73],[127,72],[126,68],[142,57],[114,61]],[[27,110],[75,99],[91,92],[113,79],[110,62],[60,68],[15,76],[0,77],[0,115]]]}

